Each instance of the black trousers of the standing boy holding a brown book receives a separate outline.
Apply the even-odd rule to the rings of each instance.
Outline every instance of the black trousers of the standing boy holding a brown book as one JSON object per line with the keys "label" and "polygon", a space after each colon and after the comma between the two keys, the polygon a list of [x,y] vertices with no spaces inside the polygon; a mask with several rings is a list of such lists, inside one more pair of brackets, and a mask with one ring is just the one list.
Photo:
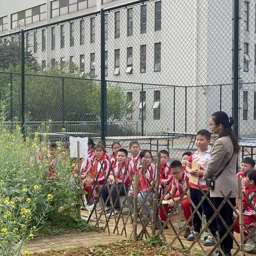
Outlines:
{"label": "black trousers of the standing boy holding a brown book", "polygon": [[[201,190],[190,188],[190,198],[191,198],[191,201],[195,204],[195,206],[199,204],[203,196],[204,195],[201,192]],[[210,197],[210,193],[208,194],[208,198],[213,203],[212,198]],[[194,207],[191,207],[191,208],[192,208],[192,211],[194,211]],[[205,214],[206,221],[208,222],[212,218],[212,215],[214,214],[214,210],[212,209],[210,203],[206,199],[198,208],[198,212],[200,213],[201,217],[202,217],[203,211]],[[197,213],[194,214],[194,217],[193,217],[193,227],[194,227],[194,230],[198,233],[200,232],[200,229],[202,227],[202,220],[200,219]],[[209,225],[209,229],[212,235],[215,236],[216,231],[218,230],[216,218],[214,218],[211,224]]]}

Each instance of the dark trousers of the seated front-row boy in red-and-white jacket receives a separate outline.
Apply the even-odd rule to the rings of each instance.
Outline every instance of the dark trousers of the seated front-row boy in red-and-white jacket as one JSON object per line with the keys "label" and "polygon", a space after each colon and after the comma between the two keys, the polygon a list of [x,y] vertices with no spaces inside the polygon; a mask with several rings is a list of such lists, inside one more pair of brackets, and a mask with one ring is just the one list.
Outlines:
{"label": "dark trousers of the seated front-row boy in red-and-white jacket", "polygon": [[[111,189],[112,186],[114,186],[113,190],[111,191],[111,198],[112,198],[113,204],[115,204],[115,202],[116,202],[116,198],[117,198],[117,194],[118,194],[119,190],[120,190],[119,196],[125,196],[125,191],[126,191],[126,194],[128,193],[129,186],[124,186],[122,184],[115,184],[115,185],[107,184],[107,185],[104,185],[103,188],[102,188],[102,194],[101,194],[104,203],[107,201],[109,190]],[[111,206],[111,203],[110,203],[109,199],[108,199],[108,202],[107,202],[106,206]],[[120,210],[119,199],[117,200],[116,205],[114,206],[114,208],[116,210]]]}

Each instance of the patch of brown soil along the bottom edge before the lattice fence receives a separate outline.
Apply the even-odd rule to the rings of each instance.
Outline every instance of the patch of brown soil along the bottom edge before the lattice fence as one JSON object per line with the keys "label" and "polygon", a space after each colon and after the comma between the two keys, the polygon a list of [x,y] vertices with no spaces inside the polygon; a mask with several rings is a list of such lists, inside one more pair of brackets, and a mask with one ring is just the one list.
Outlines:
{"label": "patch of brown soil along the bottom edge before the lattice fence", "polygon": [[[77,249],[66,249],[49,251],[35,254],[36,256],[195,256],[193,253],[173,248],[166,244],[155,244],[146,241],[134,242],[124,240],[121,242],[95,245],[92,247],[80,247]],[[198,254],[197,254],[198,255]]]}

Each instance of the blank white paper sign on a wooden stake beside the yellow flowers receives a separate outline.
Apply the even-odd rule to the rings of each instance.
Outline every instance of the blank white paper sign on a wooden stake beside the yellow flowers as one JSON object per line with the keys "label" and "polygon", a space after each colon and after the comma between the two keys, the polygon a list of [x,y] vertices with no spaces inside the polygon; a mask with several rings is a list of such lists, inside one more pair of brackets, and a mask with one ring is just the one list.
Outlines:
{"label": "blank white paper sign on a wooden stake beside the yellow flowers", "polygon": [[83,157],[84,159],[88,158],[88,138],[81,138],[81,137],[69,137],[70,143],[70,157],[76,158],[77,157],[77,141],[80,142],[80,156],[79,158]]}

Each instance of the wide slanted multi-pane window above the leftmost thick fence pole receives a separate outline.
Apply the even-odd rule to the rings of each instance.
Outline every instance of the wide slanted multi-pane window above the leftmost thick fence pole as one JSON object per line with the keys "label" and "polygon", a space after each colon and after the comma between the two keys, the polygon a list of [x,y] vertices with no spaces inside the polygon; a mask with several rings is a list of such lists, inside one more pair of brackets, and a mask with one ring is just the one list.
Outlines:
{"label": "wide slanted multi-pane window above the leftmost thick fence pole", "polygon": [[11,28],[26,26],[31,23],[46,20],[46,4],[11,14]]}

